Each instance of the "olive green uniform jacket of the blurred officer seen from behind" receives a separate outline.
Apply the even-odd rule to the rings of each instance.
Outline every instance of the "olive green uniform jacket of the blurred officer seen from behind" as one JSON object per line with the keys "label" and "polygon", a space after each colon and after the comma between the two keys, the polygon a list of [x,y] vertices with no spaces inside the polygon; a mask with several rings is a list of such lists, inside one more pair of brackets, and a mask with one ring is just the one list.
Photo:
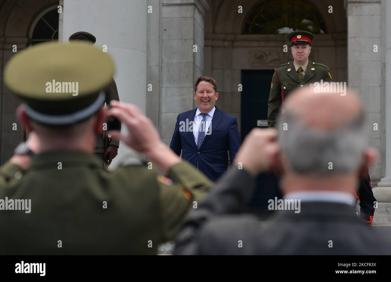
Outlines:
{"label": "olive green uniform jacket of the blurred officer seen from behind", "polygon": [[83,151],[36,155],[23,176],[8,162],[0,201],[31,205],[29,213],[0,205],[0,255],[156,254],[213,185],[184,161],[167,176],[145,165],[106,171]]}

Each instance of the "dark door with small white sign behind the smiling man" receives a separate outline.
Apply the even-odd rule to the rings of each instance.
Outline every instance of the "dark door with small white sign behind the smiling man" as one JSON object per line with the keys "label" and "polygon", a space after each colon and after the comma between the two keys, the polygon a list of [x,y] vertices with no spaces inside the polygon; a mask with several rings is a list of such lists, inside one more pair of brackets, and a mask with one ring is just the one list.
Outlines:
{"label": "dark door with small white sign behind the smiling man", "polygon": [[[267,101],[274,70],[242,70],[242,114],[241,135],[244,137],[254,127],[267,127]],[[271,211],[267,201],[282,197],[278,188],[279,177],[268,173],[258,176],[253,197],[248,205],[249,211],[267,218]]]}

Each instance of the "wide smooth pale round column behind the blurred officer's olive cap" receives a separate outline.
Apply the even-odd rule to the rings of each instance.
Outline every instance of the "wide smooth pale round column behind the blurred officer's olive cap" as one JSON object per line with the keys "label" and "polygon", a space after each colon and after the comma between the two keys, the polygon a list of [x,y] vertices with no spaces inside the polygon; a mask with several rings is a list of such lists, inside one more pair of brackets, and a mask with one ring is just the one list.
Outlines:
{"label": "wide smooth pale round column behind the blurred officer's olive cap", "polygon": [[[119,98],[146,105],[147,2],[145,0],[64,0],[63,41],[77,31],[90,32],[97,38],[95,46],[107,45],[115,61],[114,79]],[[122,132],[126,128],[122,126]],[[118,156],[110,168],[133,157],[134,153],[120,144]]]}

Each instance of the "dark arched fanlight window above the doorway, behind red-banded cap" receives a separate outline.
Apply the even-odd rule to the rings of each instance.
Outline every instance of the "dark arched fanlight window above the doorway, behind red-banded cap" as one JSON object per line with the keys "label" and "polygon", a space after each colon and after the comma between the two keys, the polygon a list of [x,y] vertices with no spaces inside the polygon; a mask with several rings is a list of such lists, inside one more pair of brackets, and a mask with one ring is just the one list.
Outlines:
{"label": "dark arched fanlight window above the doorway, behind red-banded cap", "polygon": [[249,12],[242,34],[326,33],[317,7],[308,0],[262,0]]}

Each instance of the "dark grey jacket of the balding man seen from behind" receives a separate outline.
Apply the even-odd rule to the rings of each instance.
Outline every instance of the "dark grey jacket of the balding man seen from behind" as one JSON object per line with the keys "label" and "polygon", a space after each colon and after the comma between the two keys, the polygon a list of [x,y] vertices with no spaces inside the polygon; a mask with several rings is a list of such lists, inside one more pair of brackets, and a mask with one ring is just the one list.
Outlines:
{"label": "dark grey jacket of the balding man seen from behind", "polygon": [[232,168],[192,211],[174,253],[391,254],[391,236],[366,226],[347,204],[302,202],[300,213],[277,211],[266,224],[242,214],[254,184],[255,178],[246,170]]}

